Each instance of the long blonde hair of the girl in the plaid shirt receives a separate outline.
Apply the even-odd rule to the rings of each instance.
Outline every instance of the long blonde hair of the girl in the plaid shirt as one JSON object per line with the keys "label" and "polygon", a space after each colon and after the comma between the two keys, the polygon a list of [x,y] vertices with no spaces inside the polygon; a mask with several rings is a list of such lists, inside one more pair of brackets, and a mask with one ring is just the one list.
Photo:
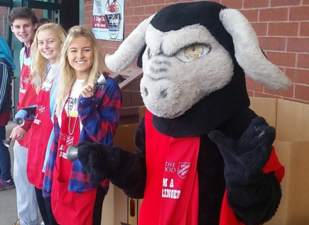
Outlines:
{"label": "long blonde hair of the girl in the plaid shirt", "polygon": [[99,43],[97,43],[97,39],[94,37],[94,34],[90,28],[85,26],[73,26],[70,28],[67,33],[67,39],[65,40],[65,44],[63,45],[60,54],[60,87],[56,101],[56,114],[58,116],[60,115],[61,107],[67,98],[67,94],[70,92],[71,86],[76,79],[75,70],[70,66],[70,63],[67,60],[67,50],[72,40],[79,36],[84,36],[90,40],[94,50],[94,62],[90,70],[90,74],[85,79],[83,85],[94,82],[95,79],[101,75],[104,70],[106,70],[105,62],[101,54],[101,48],[99,47]]}

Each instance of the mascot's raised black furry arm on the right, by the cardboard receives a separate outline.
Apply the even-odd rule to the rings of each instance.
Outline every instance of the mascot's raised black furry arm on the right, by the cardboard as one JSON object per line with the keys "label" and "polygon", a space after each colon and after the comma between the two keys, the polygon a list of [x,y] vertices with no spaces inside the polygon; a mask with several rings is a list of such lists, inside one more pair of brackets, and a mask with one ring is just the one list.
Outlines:
{"label": "mascot's raised black furry arm on the right, by the cardboard", "polygon": [[269,221],[281,200],[281,187],[273,172],[263,172],[271,156],[274,128],[256,117],[237,141],[220,131],[212,131],[209,137],[224,158],[227,199],[237,219],[246,225]]}

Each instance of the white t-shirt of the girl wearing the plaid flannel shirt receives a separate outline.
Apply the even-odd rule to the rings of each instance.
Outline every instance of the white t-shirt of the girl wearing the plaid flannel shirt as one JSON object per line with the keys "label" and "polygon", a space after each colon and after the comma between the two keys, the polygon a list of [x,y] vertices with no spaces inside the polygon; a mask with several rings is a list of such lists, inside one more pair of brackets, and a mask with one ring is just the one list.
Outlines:
{"label": "white t-shirt of the girl wearing the plaid flannel shirt", "polygon": [[[83,82],[85,79],[76,79],[75,84],[72,88],[72,92],[70,94],[70,99],[67,100],[67,103],[65,104],[65,111],[67,112],[67,104],[70,106],[70,116],[71,116],[71,128],[70,131],[72,132],[72,127],[75,122],[75,118],[78,116],[78,111],[77,111],[77,103],[78,99],[80,98],[80,94],[82,93],[82,87],[83,87]],[[61,115],[62,115],[63,108],[61,109]],[[67,112],[68,115],[68,112]],[[58,116],[58,123],[59,126],[61,127],[61,116]],[[80,121],[80,131],[82,131],[82,122]]]}

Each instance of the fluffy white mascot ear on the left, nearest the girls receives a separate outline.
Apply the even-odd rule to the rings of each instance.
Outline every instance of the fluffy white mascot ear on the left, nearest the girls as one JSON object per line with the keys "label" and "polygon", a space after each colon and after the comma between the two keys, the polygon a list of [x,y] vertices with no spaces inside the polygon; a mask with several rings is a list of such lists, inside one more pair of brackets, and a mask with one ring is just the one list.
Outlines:
{"label": "fluffy white mascot ear on the left, nearest the girls", "polygon": [[145,47],[145,33],[154,15],[146,18],[137,26],[132,33],[124,40],[113,55],[105,56],[107,68],[113,72],[126,70],[139,56]]}

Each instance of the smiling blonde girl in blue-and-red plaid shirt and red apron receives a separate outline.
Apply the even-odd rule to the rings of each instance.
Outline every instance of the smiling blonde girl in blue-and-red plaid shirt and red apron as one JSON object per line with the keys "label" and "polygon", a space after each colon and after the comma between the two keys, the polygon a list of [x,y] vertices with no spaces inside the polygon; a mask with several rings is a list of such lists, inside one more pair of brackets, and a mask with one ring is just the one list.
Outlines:
{"label": "smiling blonde girl in blue-and-red plaid shirt and red apron", "polygon": [[[51,195],[53,214],[59,224],[99,225],[109,180],[90,184],[80,161],[67,160],[67,147],[80,141],[112,146],[119,124],[121,92],[114,79],[103,72],[101,49],[89,28],[70,29],[60,62],[55,137],[43,194]],[[95,80],[102,74],[107,84],[95,87]]]}

